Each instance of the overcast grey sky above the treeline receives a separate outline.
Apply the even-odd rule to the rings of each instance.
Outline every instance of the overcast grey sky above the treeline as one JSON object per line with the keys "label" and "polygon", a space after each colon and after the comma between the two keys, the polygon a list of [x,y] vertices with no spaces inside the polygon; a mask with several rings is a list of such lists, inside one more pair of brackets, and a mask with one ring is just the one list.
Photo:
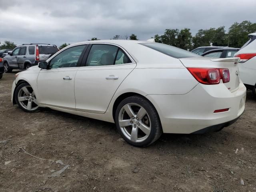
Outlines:
{"label": "overcast grey sky above the treeline", "polygon": [[256,0],[0,0],[0,42],[74,43],[256,22]]}

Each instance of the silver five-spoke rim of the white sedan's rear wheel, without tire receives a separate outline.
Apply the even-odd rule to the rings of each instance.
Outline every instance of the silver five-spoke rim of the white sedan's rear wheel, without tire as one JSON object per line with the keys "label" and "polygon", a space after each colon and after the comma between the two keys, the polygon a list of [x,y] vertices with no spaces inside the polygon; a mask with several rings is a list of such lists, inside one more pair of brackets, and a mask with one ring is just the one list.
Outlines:
{"label": "silver five-spoke rim of the white sedan's rear wheel, without tire", "polygon": [[118,123],[124,136],[132,142],[143,142],[151,132],[148,113],[136,103],[128,103],[121,108]]}

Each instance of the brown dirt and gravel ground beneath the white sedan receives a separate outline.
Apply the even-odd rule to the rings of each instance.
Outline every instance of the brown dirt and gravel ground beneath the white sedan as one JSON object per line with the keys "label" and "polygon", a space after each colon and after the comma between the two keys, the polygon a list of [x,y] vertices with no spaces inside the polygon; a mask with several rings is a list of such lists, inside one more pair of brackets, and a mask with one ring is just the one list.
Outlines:
{"label": "brown dirt and gravel ground beneath the white sedan", "polygon": [[[12,136],[0,143],[1,192],[256,192],[251,91],[242,117],[220,132],[163,134],[136,148],[120,139],[114,124],[50,109],[25,113],[13,106],[14,74],[0,80],[0,141]],[[53,177],[64,167],[57,160],[70,166]]]}

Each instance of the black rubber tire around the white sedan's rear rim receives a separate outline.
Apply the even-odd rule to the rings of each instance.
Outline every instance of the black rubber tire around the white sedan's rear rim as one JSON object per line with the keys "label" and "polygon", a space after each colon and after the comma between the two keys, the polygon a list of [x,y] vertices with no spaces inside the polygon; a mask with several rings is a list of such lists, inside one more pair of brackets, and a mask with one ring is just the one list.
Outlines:
{"label": "black rubber tire around the white sedan's rear rim", "polygon": [[[125,106],[128,103],[135,103],[138,104],[140,106],[142,106],[149,118],[150,118],[150,124],[151,124],[151,130],[150,130],[150,134],[148,135],[148,138],[146,138],[146,140],[142,141],[142,142],[132,142],[129,138],[127,138],[119,125],[119,113],[120,110],[122,110],[123,106]],[[160,138],[160,136],[162,135],[162,126],[161,126],[161,122],[160,122],[160,118],[158,116],[158,113],[156,111],[156,109],[154,108],[154,106],[152,105],[152,103],[150,103],[146,98],[142,97],[142,96],[131,96],[128,97],[124,100],[122,100],[122,102],[120,102],[120,104],[118,105],[116,112],[115,112],[115,122],[116,122],[116,128],[118,129],[118,132],[120,133],[120,135],[122,136],[122,138],[124,138],[124,140],[126,140],[126,142],[128,142],[129,144],[136,146],[136,147],[144,147],[144,146],[148,146],[150,144],[152,144],[153,142],[155,142],[156,140],[158,140],[158,138]]]}

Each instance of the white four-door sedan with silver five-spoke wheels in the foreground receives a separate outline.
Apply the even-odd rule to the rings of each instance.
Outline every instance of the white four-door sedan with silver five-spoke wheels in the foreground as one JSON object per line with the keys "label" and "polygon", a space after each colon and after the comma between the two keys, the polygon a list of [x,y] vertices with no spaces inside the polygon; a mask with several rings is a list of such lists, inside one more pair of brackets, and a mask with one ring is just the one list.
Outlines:
{"label": "white four-door sedan with silver five-spoke wheels in the foreground", "polygon": [[147,41],[72,44],[16,74],[12,102],[115,122],[134,146],[164,133],[218,131],[244,111],[239,58],[203,58]]}

